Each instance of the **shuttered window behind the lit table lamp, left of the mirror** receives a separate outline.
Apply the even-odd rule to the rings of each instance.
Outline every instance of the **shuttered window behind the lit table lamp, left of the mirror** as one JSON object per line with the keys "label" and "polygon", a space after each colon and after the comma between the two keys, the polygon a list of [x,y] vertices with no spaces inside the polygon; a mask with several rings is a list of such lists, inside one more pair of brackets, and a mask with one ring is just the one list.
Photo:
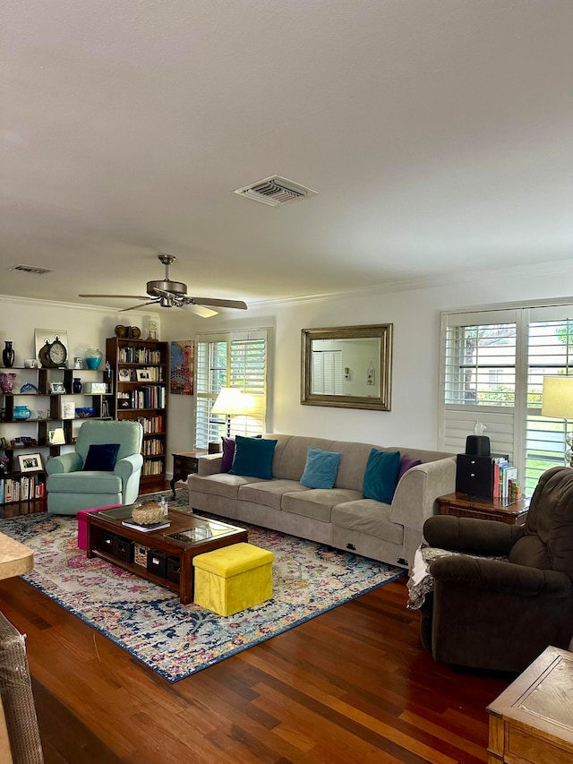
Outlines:
{"label": "shuttered window behind the lit table lamp, left of the mirror", "polygon": [[225,416],[211,408],[222,387],[252,396],[248,416],[234,416],[231,434],[256,435],[265,431],[267,401],[267,330],[199,334],[197,336],[197,396],[195,444],[207,448],[226,434]]}

